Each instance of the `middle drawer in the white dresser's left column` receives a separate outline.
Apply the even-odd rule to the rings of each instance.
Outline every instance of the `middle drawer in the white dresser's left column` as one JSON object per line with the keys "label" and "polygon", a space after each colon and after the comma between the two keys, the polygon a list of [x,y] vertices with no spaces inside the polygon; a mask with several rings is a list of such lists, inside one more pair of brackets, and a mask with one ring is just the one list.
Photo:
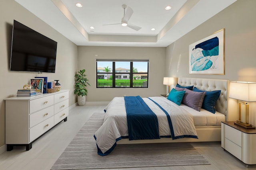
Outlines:
{"label": "middle drawer in the white dresser's left column", "polygon": [[54,115],[54,106],[47,107],[29,115],[29,127],[33,127],[38,123],[52,117]]}

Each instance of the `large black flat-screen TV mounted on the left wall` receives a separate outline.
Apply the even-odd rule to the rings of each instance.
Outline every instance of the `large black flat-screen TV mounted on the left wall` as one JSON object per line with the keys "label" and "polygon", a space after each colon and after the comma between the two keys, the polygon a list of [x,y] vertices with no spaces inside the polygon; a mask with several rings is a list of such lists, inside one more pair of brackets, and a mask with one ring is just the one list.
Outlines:
{"label": "large black flat-screen TV mounted on the left wall", "polygon": [[14,20],[11,71],[55,72],[57,42]]}

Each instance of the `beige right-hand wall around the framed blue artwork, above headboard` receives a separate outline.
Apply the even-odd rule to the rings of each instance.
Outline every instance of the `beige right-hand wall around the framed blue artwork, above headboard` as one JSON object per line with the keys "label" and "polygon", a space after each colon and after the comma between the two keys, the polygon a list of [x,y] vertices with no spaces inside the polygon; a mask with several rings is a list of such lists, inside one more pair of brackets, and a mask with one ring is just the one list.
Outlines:
{"label": "beige right-hand wall around the framed blue artwork, above headboard", "polygon": [[[255,0],[238,0],[169,45],[166,49],[166,74],[256,82],[255,7]],[[225,75],[188,74],[188,46],[222,28],[225,29]],[[256,106],[250,106],[250,121],[256,125]]]}

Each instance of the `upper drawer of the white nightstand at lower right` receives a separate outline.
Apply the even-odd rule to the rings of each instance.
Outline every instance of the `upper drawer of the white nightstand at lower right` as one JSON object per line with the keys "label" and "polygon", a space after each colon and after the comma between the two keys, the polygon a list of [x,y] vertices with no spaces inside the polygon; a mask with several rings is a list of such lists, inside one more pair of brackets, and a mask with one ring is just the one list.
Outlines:
{"label": "upper drawer of the white nightstand at lower right", "polygon": [[235,143],[236,145],[242,147],[242,132],[225,125],[225,137]]}

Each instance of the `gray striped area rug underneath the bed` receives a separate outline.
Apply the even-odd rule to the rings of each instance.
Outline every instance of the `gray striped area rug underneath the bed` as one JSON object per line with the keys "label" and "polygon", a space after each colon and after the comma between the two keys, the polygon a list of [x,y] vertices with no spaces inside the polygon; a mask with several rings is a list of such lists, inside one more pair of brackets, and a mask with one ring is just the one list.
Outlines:
{"label": "gray striped area rug underneath the bed", "polygon": [[71,141],[51,170],[206,165],[209,162],[189,143],[117,145],[107,156],[97,154],[94,133],[103,113],[94,113]]}

